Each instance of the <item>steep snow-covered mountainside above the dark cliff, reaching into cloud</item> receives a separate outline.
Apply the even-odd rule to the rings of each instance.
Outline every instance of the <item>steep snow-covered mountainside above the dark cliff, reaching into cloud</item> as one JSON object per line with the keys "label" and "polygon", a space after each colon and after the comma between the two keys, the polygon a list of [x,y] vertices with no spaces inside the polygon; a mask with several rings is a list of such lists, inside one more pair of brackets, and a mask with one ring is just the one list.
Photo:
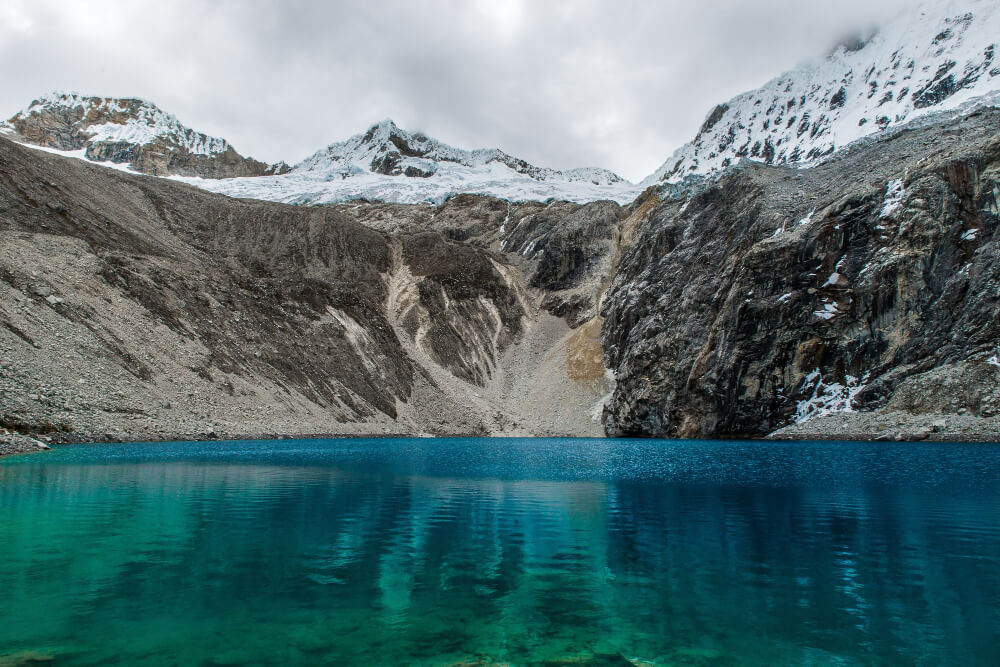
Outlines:
{"label": "steep snow-covered mountainside above the dark cliff, reaching into cloud", "polygon": [[740,159],[812,162],[932,112],[995,103],[998,42],[996,0],[926,3],[718,105],[694,141],[643,184],[711,174]]}

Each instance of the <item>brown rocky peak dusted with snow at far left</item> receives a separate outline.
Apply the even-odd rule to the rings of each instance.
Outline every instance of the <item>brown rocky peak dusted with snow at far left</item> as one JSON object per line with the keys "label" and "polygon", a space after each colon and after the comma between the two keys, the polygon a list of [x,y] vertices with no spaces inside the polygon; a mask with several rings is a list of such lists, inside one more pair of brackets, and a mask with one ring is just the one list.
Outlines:
{"label": "brown rocky peak dusted with snow at far left", "polygon": [[195,132],[156,105],[134,98],[51,93],[3,124],[20,141],[154,176],[229,178],[284,173],[237,153],[224,139]]}

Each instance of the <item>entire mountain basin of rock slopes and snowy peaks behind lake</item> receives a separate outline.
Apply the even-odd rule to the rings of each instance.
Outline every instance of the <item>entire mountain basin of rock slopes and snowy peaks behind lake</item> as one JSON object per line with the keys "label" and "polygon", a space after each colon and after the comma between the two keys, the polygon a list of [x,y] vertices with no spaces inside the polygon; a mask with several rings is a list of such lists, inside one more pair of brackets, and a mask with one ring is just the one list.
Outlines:
{"label": "entire mountain basin of rock slopes and snowy peaks behind lake", "polygon": [[640,185],[39,98],[0,126],[0,429],[996,439],[998,17],[841,45]]}

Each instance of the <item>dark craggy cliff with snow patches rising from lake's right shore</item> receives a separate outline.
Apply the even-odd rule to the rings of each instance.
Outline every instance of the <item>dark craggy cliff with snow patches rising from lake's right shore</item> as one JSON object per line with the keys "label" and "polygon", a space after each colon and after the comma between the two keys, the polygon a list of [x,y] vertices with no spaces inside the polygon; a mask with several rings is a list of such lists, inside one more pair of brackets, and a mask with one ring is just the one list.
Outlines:
{"label": "dark craggy cliff with snow patches rising from lake's right shore", "polygon": [[[762,436],[874,409],[994,415],[998,128],[1000,111],[983,109],[809,169],[750,162],[648,192],[623,213],[603,299],[608,432]],[[970,379],[978,389],[956,390]]]}

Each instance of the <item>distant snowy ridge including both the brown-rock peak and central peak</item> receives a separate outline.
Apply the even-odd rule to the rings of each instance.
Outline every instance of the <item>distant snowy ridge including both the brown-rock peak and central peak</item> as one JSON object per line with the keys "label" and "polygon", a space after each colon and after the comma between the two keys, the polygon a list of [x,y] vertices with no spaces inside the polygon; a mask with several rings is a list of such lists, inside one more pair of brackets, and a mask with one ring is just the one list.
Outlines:
{"label": "distant snowy ridge including both the brown-rock peak and central peak", "polygon": [[498,149],[454,148],[389,119],[293,168],[243,157],[226,140],[196,132],[138,98],[51,93],[0,123],[0,134],[213,192],[293,204],[440,203],[458,194],[627,203],[639,193],[607,169],[536,167]]}

